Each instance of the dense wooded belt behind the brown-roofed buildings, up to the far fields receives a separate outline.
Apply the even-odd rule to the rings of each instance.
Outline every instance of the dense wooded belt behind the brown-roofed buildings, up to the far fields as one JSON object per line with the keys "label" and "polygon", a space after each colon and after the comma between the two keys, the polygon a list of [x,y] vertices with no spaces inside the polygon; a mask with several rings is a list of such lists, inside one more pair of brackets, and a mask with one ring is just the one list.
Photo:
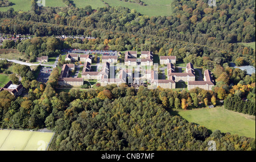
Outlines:
{"label": "dense wooded belt behind the brown-roofed buildings, up to the far fields", "polygon": [[0,12],[0,33],[36,36],[85,35],[94,40],[66,40],[73,48],[117,51],[152,51],[174,55],[200,66],[209,57],[208,69],[230,61],[255,67],[255,51],[239,42],[255,41],[255,2],[173,1],[172,16],[141,15],[124,7],[92,10],[32,6],[30,12]]}

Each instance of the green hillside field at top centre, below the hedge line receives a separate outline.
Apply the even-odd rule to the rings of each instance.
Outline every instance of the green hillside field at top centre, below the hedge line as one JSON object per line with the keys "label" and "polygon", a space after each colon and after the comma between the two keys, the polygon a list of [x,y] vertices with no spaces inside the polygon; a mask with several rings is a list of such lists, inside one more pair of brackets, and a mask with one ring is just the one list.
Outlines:
{"label": "green hillside field at top centre, below the hedge line", "polygon": [[143,1],[146,6],[139,5],[138,3],[130,3],[129,1],[119,0],[104,0],[109,6],[123,6],[130,10],[135,9],[138,13],[148,16],[170,16],[172,14],[171,0],[147,0]]}

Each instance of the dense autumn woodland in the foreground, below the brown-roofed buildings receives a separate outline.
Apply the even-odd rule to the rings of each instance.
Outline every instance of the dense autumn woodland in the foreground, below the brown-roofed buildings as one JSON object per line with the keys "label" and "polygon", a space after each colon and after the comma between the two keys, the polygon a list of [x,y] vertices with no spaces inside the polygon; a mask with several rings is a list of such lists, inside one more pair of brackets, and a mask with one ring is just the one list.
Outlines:
{"label": "dense autumn woodland in the foreground, below the brown-roofed buildings", "polygon": [[55,68],[46,85],[32,80],[23,97],[0,92],[1,128],[47,127],[57,134],[52,150],[207,150],[209,140],[218,150],[255,150],[254,138],[211,133],[168,112],[220,104],[212,91],[135,90],[123,84],[56,93],[58,78]]}

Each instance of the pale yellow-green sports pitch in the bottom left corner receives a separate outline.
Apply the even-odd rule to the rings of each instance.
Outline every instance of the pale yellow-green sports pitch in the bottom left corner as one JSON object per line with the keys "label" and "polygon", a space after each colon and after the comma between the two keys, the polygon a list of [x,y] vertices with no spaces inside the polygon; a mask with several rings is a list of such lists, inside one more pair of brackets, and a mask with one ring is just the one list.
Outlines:
{"label": "pale yellow-green sports pitch in the bottom left corner", "polygon": [[0,130],[0,151],[46,151],[54,132]]}

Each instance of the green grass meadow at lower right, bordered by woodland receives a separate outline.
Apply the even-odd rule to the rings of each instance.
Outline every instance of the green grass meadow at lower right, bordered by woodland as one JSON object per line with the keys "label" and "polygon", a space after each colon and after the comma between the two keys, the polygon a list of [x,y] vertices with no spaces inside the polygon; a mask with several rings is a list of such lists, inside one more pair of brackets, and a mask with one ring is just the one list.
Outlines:
{"label": "green grass meadow at lower right, bordered by woodland", "polygon": [[210,131],[220,130],[230,134],[255,138],[255,117],[224,109],[224,107],[177,110],[170,112],[180,115],[188,122],[207,127]]}

